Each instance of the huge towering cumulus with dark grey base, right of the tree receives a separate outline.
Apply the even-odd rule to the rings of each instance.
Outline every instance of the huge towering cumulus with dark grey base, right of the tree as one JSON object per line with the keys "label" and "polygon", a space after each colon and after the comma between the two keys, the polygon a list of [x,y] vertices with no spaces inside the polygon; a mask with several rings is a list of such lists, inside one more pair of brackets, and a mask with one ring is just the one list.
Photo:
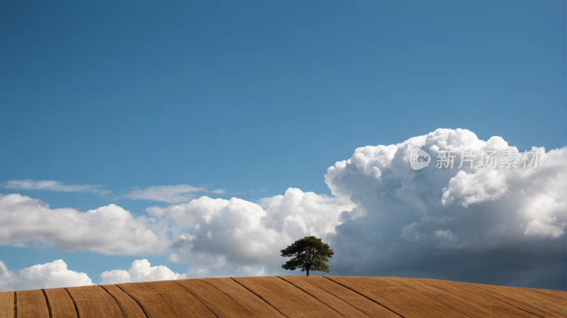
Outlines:
{"label": "huge towering cumulus with dark grey base, right of the tree", "polygon": [[[434,159],[429,168],[413,171],[408,160],[417,147]],[[470,149],[499,150],[496,169],[483,168],[480,155],[472,168],[466,163],[456,169],[461,150]],[[454,169],[435,168],[444,150],[455,151]],[[520,150],[517,169],[503,168],[502,150]],[[461,129],[356,149],[325,174],[332,194],[359,211],[336,228],[335,270],[508,285],[529,277],[533,285],[565,288],[550,277],[565,278],[558,259],[567,228],[567,151],[528,149],[540,152],[539,166],[523,169],[523,150],[502,137],[483,141]]]}

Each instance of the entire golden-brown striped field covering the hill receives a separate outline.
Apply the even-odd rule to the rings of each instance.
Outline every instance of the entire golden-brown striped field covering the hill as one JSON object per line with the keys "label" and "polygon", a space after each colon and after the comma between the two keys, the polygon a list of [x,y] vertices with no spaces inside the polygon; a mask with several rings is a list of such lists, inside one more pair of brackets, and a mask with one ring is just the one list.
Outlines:
{"label": "entire golden-brown striped field covering the hill", "polygon": [[448,280],[199,278],[0,292],[0,318],[550,317],[567,292]]}

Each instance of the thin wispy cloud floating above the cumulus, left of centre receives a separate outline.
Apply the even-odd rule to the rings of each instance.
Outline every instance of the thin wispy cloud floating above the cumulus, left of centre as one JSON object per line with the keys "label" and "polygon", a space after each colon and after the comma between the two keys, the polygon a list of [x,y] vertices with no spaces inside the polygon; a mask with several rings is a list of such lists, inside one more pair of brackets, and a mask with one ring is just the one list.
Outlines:
{"label": "thin wispy cloud floating above the cumulus, left of centre", "polygon": [[[125,195],[122,195],[122,198],[129,198],[134,200],[152,200],[166,203],[182,203],[193,200],[193,198],[195,198],[195,195],[193,193],[203,191],[208,192],[206,188],[196,188],[187,184],[179,184],[177,186],[150,186],[144,189],[132,190]],[[223,190],[219,189],[215,191]],[[211,192],[220,193],[215,191]]]}

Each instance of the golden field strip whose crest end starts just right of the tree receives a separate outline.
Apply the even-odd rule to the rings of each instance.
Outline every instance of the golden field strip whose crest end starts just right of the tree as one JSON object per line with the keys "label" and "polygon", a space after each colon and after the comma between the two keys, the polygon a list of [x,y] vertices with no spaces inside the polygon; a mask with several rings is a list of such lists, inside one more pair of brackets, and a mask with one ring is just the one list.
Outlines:
{"label": "golden field strip whose crest end starts just right of the tree", "polygon": [[[327,277],[327,276],[325,276]],[[347,288],[371,298],[403,317],[466,317],[450,307],[386,278],[378,277],[328,277]]]}

